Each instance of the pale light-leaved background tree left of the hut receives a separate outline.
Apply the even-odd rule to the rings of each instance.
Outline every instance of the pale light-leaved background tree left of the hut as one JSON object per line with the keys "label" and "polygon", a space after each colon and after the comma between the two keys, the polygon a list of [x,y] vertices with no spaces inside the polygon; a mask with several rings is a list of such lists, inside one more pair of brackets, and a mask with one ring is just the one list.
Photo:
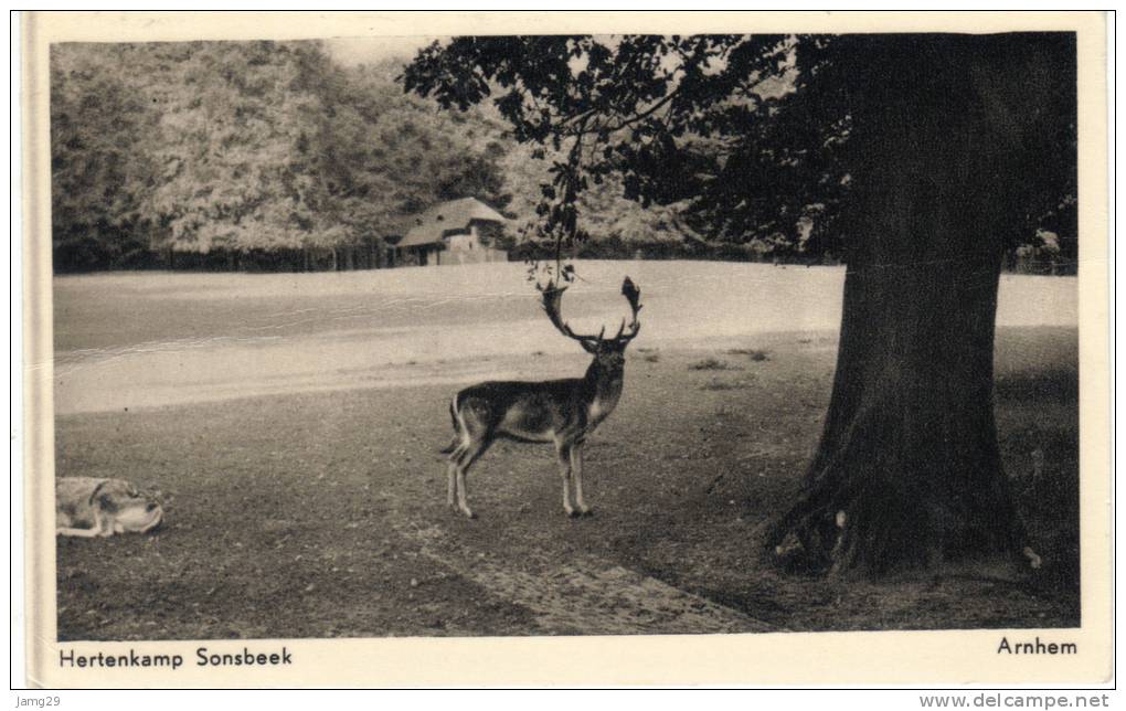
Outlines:
{"label": "pale light-leaved background tree left of the hut", "polygon": [[153,201],[169,246],[302,249],[332,245],[312,140],[325,73],[310,45],[175,46],[176,81],[161,112]]}

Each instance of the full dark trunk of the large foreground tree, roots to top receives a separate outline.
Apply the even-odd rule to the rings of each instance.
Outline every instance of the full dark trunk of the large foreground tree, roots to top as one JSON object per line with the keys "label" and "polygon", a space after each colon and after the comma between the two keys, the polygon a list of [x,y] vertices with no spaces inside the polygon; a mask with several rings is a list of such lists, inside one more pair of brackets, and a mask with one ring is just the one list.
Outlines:
{"label": "full dark trunk of the large foreground tree, roots to top", "polygon": [[1019,89],[1021,55],[998,62],[975,42],[914,66],[919,47],[896,47],[895,79],[870,90],[881,130],[856,141],[829,411],[804,491],[769,539],[787,563],[881,575],[1020,560],[1027,545],[998,446],[993,337],[1038,97]]}

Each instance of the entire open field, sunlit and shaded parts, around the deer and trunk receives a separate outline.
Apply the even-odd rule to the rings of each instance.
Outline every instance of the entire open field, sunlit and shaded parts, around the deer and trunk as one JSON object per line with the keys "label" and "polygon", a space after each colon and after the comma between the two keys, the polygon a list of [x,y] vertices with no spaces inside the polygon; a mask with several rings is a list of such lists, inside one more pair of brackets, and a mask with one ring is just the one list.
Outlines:
{"label": "entire open field, sunlit and shaded parts, around the deer and trunk", "polygon": [[55,282],[59,476],[172,494],[154,535],[57,541],[60,638],[191,639],[1067,626],[1079,620],[1075,283],[1003,279],[998,418],[1045,568],[881,583],[780,575],[835,357],[839,269],[586,263],[575,328],[642,287],[626,389],[568,519],[549,448],[445,507],[462,383],[579,374],[520,265]]}

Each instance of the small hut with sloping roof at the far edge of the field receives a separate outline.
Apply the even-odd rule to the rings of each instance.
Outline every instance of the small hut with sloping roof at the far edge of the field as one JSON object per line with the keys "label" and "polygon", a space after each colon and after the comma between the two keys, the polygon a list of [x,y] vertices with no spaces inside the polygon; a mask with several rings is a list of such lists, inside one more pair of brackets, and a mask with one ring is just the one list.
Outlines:
{"label": "small hut with sloping roof at the far edge of the field", "polygon": [[508,252],[493,247],[507,223],[475,197],[439,203],[413,217],[402,239],[391,245],[388,261],[423,267],[508,261]]}

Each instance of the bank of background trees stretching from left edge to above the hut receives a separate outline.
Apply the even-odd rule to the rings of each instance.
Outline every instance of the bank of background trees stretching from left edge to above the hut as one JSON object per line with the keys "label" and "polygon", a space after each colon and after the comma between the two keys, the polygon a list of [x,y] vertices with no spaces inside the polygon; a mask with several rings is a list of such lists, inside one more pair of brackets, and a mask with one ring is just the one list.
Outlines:
{"label": "bank of background trees stretching from left edge to above the hut", "polygon": [[437,201],[511,199],[497,122],[404,95],[393,64],[202,42],[56,45],[51,69],[59,270],[347,247]]}

